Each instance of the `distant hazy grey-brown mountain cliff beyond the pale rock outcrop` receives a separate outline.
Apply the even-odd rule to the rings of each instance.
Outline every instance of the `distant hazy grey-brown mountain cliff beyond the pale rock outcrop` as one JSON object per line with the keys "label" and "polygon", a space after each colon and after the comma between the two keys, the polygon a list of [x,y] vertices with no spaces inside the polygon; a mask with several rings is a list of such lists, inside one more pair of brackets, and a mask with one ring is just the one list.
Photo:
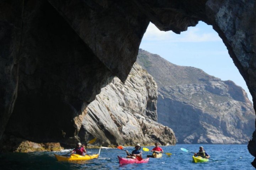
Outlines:
{"label": "distant hazy grey-brown mountain cliff beyond the pale rock outcrop", "polygon": [[158,83],[158,122],[175,131],[178,143],[248,143],[255,112],[246,92],[233,81],[177,66],[141,49],[137,62]]}

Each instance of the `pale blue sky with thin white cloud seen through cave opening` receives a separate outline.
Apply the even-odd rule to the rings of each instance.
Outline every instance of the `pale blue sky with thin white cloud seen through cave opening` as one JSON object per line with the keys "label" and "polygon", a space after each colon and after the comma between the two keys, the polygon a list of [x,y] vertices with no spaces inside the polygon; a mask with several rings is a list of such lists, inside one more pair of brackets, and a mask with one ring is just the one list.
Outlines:
{"label": "pale blue sky with thin white cloud seen through cave opening", "polygon": [[181,34],[160,31],[150,23],[140,48],[158,54],[171,63],[200,68],[214,77],[232,80],[246,91],[252,101],[245,81],[222,39],[212,26],[204,22],[199,22],[196,27],[188,27],[188,30]]}

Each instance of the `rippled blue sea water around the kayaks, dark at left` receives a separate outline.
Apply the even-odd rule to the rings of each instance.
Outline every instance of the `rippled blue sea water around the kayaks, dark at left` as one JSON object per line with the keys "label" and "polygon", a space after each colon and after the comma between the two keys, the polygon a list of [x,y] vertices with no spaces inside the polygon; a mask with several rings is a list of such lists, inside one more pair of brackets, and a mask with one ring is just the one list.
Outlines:
{"label": "rippled blue sea water around the kayaks, dark at left", "polygon": [[[99,159],[79,162],[58,162],[53,153],[65,154],[62,152],[33,152],[33,153],[1,153],[0,170],[82,170],[82,169],[210,169],[210,170],[255,170],[251,165],[254,157],[248,152],[247,145],[203,145],[204,149],[217,160],[209,160],[207,163],[193,163],[192,153],[181,151],[185,148],[191,152],[197,152],[201,145],[176,145],[163,146],[164,152],[173,155],[163,155],[161,159],[150,158],[146,164],[119,165],[117,155],[125,156],[126,153],[119,149],[101,149]],[[153,146],[146,148],[152,149]],[[133,147],[125,147],[132,151]],[[87,149],[89,154],[97,153],[98,149]],[[143,151],[143,157],[150,152]]]}

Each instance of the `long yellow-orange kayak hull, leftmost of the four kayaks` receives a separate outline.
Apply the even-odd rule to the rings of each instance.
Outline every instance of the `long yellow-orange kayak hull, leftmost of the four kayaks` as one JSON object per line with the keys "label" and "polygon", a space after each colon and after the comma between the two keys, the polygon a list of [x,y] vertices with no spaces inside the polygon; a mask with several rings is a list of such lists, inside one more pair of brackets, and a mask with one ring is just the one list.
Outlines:
{"label": "long yellow-orange kayak hull, leftmost of the four kayaks", "polygon": [[72,161],[72,160],[90,160],[94,158],[98,158],[99,154],[92,154],[92,155],[79,155],[79,154],[71,154],[70,156],[62,156],[62,155],[57,155],[55,154],[55,157],[57,158],[58,161]]}

